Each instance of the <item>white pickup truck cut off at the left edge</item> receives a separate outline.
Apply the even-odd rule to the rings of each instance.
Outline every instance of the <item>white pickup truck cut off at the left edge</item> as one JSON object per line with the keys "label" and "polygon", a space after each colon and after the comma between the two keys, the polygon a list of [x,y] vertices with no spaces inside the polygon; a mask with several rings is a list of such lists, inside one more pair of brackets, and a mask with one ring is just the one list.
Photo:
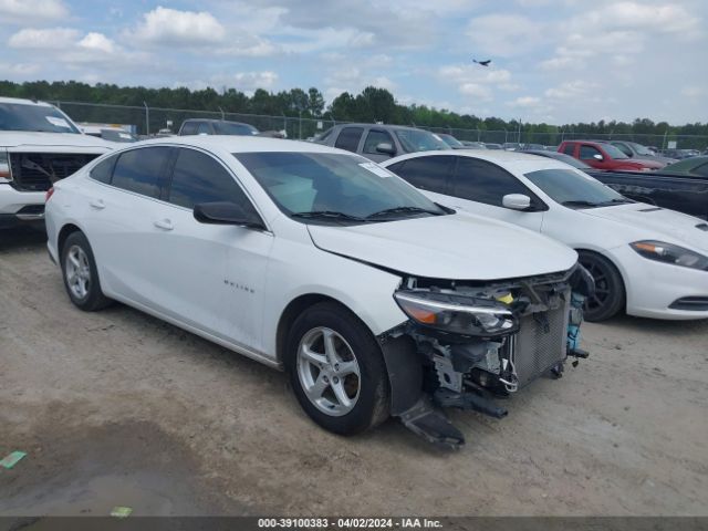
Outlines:
{"label": "white pickup truck cut off at the left edge", "polygon": [[53,105],[0,97],[0,228],[42,221],[46,190],[117,146]]}

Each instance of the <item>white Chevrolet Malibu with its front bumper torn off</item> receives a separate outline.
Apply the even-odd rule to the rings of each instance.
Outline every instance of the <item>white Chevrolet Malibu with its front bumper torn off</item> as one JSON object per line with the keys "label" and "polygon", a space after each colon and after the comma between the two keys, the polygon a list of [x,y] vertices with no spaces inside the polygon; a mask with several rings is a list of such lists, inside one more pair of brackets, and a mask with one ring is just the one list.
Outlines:
{"label": "white Chevrolet Malibu with its front bumper torn off", "polygon": [[575,251],[316,144],[133,144],[58,183],[46,230],[76,306],[121,301],[284,368],[337,434],[393,415],[456,447],[442,408],[502,417],[496,396],[586,356]]}

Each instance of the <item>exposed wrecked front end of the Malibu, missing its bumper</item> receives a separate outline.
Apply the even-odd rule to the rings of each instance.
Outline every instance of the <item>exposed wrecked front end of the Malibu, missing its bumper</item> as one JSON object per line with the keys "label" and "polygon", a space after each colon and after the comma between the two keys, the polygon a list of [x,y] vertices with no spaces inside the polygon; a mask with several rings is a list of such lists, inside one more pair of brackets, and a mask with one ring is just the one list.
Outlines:
{"label": "exposed wrecked front end of the Malibu, missing its bumper", "polygon": [[458,448],[462,434],[444,408],[507,416],[498,398],[538,377],[563,374],[568,357],[587,357],[579,347],[582,308],[594,282],[582,266],[569,271],[499,282],[462,282],[407,277],[406,293],[434,292],[502,302],[516,326],[485,335],[449,333],[414,319],[378,337],[392,389],[392,414],[430,442]]}

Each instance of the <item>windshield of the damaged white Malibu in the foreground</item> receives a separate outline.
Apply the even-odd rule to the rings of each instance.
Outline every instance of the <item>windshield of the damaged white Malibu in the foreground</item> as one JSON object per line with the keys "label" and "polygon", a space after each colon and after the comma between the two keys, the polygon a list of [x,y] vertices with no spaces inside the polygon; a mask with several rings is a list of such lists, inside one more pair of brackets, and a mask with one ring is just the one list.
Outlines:
{"label": "windshield of the damaged white Malibu in the foreground", "polygon": [[[296,219],[352,223],[446,214],[399,177],[355,155],[269,152],[233,156],[275,205]],[[372,215],[375,219],[367,219]]]}

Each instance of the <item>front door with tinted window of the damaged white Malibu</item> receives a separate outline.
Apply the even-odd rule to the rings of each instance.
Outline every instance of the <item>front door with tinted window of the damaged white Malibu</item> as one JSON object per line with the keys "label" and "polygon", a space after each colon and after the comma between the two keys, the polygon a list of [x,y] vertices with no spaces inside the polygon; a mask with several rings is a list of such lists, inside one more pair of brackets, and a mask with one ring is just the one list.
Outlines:
{"label": "front door with tinted window of the damaged white Malibu", "polygon": [[166,315],[241,346],[260,350],[270,232],[207,225],[200,202],[256,209],[233,174],[212,155],[175,148],[171,178],[153,212],[149,252],[154,304]]}

